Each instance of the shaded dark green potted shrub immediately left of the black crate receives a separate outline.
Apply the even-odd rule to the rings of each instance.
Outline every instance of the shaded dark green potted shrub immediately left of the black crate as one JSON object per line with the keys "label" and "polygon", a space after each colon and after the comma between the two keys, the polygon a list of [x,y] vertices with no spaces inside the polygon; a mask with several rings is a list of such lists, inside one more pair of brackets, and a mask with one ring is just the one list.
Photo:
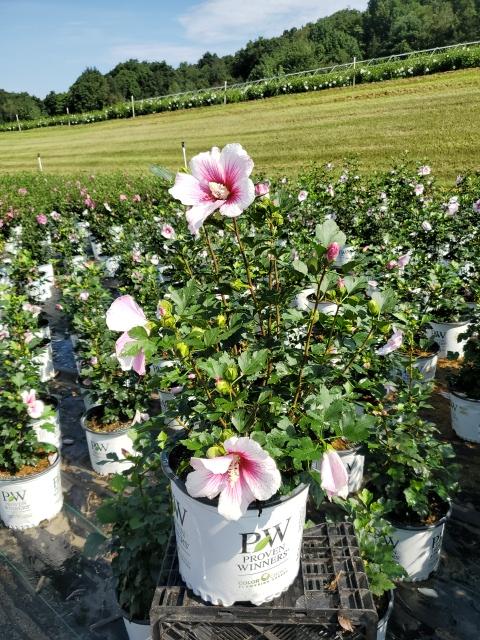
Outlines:
{"label": "shaded dark green potted shrub immediately left of the black crate", "polygon": [[[148,427],[144,424],[142,428]],[[95,531],[85,544],[87,555],[97,555],[102,547],[110,555],[114,588],[130,640],[150,638],[149,611],[172,526],[158,447],[140,438],[143,444],[135,443],[135,464],[112,477],[113,496],[96,512],[108,533]]]}

